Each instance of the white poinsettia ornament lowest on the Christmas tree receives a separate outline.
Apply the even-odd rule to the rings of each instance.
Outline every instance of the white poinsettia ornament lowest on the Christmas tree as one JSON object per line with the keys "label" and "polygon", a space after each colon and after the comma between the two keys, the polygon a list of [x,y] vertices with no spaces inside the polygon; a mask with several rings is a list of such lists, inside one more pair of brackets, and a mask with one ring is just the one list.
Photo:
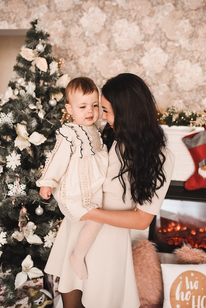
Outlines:
{"label": "white poinsettia ornament lowest on the Christmas tree", "polygon": [[44,276],[43,272],[37,267],[34,267],[34,262],[30,254],[22,261],[22,272],[18,273],[15,278],[15,289],[23,285],[28,277],[30,279]]}

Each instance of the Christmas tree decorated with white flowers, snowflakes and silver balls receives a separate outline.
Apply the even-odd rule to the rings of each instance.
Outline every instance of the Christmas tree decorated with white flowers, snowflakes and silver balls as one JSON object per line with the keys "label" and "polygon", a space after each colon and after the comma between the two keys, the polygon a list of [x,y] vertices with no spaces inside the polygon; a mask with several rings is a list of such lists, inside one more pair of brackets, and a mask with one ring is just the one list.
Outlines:
{"label": "Christmas tree decorated with white flowers, snowflakes and silver balls", "polygon": [[[0,96],[0,263],[1,282],[22,271],[28,256],[44,269],[63,218],[57,202],[39,196],[35,181],[55,143],[64,118],[68,75],[52,56],[49,34],[40,20],[31,22],[25,45]],[[4,277],[4,281],[3,281]],[[6,283],[13,283],[12,277]],[[10,294],[10,297],[11,294]],[[5,305],[5,304],[4,304]]]}

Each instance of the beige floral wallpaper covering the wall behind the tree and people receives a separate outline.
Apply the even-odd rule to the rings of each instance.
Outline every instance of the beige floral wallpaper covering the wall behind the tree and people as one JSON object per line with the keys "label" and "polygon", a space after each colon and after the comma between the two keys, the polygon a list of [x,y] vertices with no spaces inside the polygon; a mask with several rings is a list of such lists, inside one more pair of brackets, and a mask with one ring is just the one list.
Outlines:
{"label": "beige floral wallpaper covering the wall behind the tree and people", "polygon": [[1,0],[0,29],[35,18],[71,78],[131,72],[162,110],[206,109],[206,0]]}

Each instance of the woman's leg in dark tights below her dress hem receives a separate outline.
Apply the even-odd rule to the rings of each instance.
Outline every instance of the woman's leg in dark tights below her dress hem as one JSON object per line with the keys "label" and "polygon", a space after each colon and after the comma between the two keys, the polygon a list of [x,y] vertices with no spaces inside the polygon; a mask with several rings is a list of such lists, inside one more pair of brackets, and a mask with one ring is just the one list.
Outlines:
{"label": "woman's leg in dark tights below her dress hem", "polygon": [[82,291],[73,290],[69,293],[61,293],[64,308],[85,308],[81,303]]}

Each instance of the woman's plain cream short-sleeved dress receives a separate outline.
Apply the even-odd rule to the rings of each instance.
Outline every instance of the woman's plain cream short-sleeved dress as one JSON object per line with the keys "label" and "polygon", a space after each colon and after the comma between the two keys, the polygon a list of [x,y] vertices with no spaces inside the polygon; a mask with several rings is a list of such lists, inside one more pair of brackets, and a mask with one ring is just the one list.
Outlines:
{"label": "woman's plain cream short-sleeved dress", "polygon": [[[132,204],[130,190],[126,202],[122,200],[122,186],[118,179],[120,163],[115,152],[116,142],[109,151],[109,165],[103,183],[103,209],[135,210],[157,215],[171,182],[174,157],[167,150],[164,165],[167,182],[158,190],[151,205]],[[129,187],[129,186],[128,186]],[[78,233],[84,221],[70,221],[64,218],[50,252],[45,272],[60,277],[59,291],[67,293],[82,290],[82,304],[85,308],[138,308],[140,306],[137,283],[133,266],[130,229],[103,224],[97,238],[85,257],[88,279],[76,277],[69,255],[74,249]]]}

